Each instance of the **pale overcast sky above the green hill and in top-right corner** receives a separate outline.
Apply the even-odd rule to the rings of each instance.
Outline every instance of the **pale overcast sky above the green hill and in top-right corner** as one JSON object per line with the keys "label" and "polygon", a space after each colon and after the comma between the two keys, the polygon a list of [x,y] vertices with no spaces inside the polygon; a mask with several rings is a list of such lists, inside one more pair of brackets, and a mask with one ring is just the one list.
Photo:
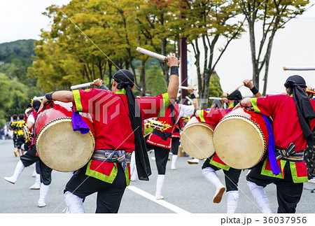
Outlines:
{"label": "pale overcast sky above the green hill and in top-right corner", "polygon": [[[70,0],[1,0],[0,43],[20,39],[39,39],[41,29],[48,30],[49,18],[42,15],[45,8],[61,6]],[[311,1],[315,3],[315,1]],[[302,17],[315,17],[315,6]]]}

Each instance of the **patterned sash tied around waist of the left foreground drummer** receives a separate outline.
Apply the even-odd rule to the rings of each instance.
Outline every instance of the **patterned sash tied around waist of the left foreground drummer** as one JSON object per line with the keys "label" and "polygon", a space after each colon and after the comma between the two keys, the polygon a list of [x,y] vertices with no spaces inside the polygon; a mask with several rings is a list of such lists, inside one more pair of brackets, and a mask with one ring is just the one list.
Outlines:
{"label": "patterned sash tied around waist of the left foreground drummer", "polygon": [[119,162],[125,170],[127,165],[130,165],[132,153],[127,153],[125,150],[94,150],[92,160],[103,162]]}

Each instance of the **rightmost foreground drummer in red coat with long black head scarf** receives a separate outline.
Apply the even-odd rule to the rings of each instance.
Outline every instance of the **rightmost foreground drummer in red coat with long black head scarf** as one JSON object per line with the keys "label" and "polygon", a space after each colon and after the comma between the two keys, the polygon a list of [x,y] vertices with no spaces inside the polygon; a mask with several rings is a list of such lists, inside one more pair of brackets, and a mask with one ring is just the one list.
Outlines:
{"label": "rightmost foreground drummer in red coat with long black head scarf", "polygon": [[315,101],[305,94],[304,78],[290,76],[284,84],[288,95],[246,98],[239,106],[253,106],[256,113],[273,118],[275,156],[260,162],[247,176],[248,186],[260,209],[267,203],[263,192],[266,185],[276,185],[278,213],[295,213],[303,183],[307,182],[307,167],[303,160],[307,144],[313,144],[311,130],[315,126]]}

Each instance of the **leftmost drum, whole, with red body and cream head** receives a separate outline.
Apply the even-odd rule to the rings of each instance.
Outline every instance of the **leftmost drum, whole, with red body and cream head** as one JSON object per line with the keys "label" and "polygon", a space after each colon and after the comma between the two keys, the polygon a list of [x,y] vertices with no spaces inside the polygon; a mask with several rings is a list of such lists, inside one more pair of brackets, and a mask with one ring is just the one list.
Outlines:
{"label": "leftmost drum, whole, with red body and cream head", "polygon": [[92,118],[80,113],[90,132],[74,132],[71,106],[72,103],[50,102],[38,112],[34,125],[38,156],[48,167],[62,172],[75,171],[87,164],[95,147]]}

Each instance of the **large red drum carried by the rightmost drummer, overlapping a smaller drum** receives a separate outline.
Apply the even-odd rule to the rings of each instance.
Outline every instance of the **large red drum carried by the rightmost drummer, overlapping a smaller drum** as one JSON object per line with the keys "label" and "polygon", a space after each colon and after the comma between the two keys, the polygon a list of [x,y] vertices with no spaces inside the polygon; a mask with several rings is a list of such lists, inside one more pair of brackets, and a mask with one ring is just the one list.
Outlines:
{"label": "large red drum carried by the rightmost drummer, overlapping a smaller drum", "polygon": [[231,111],[214,129],[214,149],[235,169],[248,169],[260,162],[268,146],[268,129],[262,115],[246,108]]}

